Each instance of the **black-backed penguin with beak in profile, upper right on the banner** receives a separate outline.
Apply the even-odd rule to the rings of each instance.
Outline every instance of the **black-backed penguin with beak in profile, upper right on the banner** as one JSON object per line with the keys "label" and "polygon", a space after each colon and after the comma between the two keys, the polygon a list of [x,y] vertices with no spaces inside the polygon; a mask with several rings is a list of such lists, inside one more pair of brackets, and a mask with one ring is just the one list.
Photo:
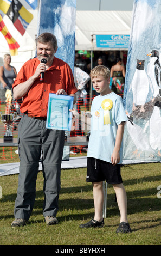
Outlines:
{"label": "black-backed penguin with beak in profile, upper right on the banner", "polygon": [[[152,90],[153,99],[159,94],[159,90],[161,89],[161,81],[160,81],[160,62],[159,62],[159,51],[152,50],[151,53],[147,54],[150,57],[150,60],[147,64],[147,76],[149,77],[149,84]],[[161,94],[160,94],[161,96]]]}

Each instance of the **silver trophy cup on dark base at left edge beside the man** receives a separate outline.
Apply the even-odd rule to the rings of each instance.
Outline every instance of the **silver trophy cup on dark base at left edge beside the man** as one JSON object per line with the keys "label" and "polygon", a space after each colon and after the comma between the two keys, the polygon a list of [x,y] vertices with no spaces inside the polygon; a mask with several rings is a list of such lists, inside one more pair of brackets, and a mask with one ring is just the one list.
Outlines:
{"label": "silver trophy cup on dark base at left edge beside the man", "polygon": [[7,125],[6,131],[4,134],[4,142],[12,142],[13,141],[13,136],[12,132],[10,131],[10,125],[14,123],[17,117],[17,112],[14,112],[14,114],[9,114],[9,115],[3,115],[2,112],[0,112],[0,119],[1,121]]}

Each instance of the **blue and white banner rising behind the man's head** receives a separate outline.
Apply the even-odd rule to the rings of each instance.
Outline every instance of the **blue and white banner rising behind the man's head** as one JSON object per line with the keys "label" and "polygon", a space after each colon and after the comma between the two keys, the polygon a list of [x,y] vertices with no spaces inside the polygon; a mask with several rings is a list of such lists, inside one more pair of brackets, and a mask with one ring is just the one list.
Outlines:
{"label": "blue and white banner rising behind the man's head", "polygon": [[74,71],[76,0],[40,0],[37,36],[50,32],[57,38],[55,56]]}

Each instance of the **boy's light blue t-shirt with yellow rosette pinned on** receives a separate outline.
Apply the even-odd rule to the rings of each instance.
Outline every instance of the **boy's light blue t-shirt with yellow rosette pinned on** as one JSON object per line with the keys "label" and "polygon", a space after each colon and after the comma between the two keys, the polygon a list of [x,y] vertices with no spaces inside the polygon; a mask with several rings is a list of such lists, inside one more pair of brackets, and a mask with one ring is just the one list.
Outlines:
{"label": "boy's light blue t-shirt with yellow rosette pinned on", "polygon": [[[92,101],[91,115],[91,135],[89,136],[87,156],[111,163],[118,125],[127,120],[123,99],[114,92],[96,96]],[[123,141],[119,163],[122,161]]]}

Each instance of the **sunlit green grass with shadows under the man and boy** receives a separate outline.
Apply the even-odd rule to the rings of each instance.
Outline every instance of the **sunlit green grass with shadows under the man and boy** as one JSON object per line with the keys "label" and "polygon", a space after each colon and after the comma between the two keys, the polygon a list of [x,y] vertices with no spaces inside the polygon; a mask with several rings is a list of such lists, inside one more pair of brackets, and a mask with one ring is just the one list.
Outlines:
{"label": "sunlit green grass with shadows under the man and boy", "polygon": [[0,245],[160,245],[161,185],[160,163],[127,165],[121,168],[127,192],[128,221],[131,234],[115,234],[119,210],[113,187],[107,190],[107,217],[104,228],[80,229],[94,216],[92,184],[87,183],[86,168],[62,169],[58,225],[43,222],[43,177],[38,173],[36,201],[29,224],[11,228],[18,175],[0,176]]}

